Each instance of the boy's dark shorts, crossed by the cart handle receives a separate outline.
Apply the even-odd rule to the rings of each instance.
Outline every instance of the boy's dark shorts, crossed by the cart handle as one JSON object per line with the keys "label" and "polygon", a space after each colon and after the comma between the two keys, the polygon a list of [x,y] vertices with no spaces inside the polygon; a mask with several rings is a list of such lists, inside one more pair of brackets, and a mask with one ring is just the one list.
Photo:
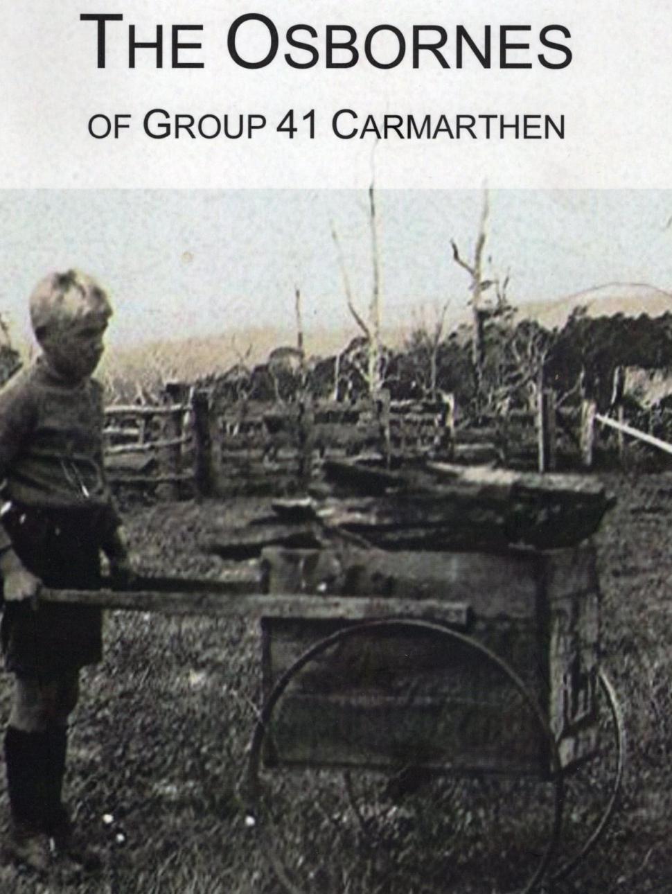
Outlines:
{"label": "boy's dark shorts, crossed by the cart handle", "polygon": [[[4,524],[21,561],[45,586],[100,586],[101,510],[15,506]],[[102,657],[102,611],[88,605],[4,603],[7,671],[41,680],[62,677]]]}

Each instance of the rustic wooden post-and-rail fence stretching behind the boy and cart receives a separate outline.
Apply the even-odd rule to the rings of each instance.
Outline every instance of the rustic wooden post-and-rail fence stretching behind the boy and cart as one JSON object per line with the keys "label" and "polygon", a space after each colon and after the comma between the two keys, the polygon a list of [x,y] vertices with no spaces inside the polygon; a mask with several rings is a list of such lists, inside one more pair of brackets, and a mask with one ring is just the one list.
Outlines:
{"label": "rustic wooden post-and-rail fence stretching behind the boy and cart", "polygon": [[[106,417],[113,485],[164,499],[294,493],[319,485],[326,460],[355,456],[391,468],[402,459],[431,459],[542,472],[589,469],[626,461],[630,436],[623,408],[612,419],[592,401],[559,407],[552,391],[533,410],[477,424],[456,419],[450,399],[398,402],[383,392],[351,404],[224,402],[183,387],[170,390],[161,405],[113,406]],[[669,422],[672,434],[672,414]],[[659,446],[659,434],[666,433],[638,440]]]}

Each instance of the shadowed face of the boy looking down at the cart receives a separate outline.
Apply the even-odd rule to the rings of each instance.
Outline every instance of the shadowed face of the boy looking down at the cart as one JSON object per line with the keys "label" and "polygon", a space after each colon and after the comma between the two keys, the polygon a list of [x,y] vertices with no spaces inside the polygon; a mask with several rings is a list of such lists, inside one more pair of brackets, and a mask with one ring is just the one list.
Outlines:
{"label": "shadowed face of the boy looking down at the cart", "polygon": [[107,320],[89,317],[54,327],[42,337],[41,345],[59,375],[79,381],[91,375],[103,356]]}

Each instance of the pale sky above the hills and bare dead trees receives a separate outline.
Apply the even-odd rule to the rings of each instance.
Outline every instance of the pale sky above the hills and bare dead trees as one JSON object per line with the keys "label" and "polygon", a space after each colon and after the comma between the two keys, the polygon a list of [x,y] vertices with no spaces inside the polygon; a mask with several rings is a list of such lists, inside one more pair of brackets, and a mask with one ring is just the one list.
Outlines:
{"label": "pale sky above the hills and bare dead trees", "polygon": [[[4,190],[0,200],[0,311],[23,337],[33,285],[70,266],[110,291],[111,346],[291,331],[295,284],[307,329],[354,334],[332,221],[363,310],[371,294],[365,191]],[[456,312],[466,306],[450,240],[473,252],[481,203],[471,190],[378,193],[386,323],[431,320],[447,299]],[[490,208],[486,254],[492,272],[510,271],[515,304],[612,282],[672,289],[672,190],[498,190]]]}

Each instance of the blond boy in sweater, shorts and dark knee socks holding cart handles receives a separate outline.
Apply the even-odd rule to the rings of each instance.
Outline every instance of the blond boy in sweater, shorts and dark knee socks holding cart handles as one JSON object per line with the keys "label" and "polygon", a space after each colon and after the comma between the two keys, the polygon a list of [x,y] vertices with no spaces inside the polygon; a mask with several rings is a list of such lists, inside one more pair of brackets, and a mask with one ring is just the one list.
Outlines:
{"label": "blond boy in sweater, shorts and dark knee socks holding cart handles", "polygon": [[[2,645],[15,675],[4,738],[11,826],[5,856],[45,872],[77,854],[61,800],[67,721],[79,671],[101,659],[101,611],[38,603],[41,585],[93,588],[100,551],[128,571],[103,471],[102,388],[90,376],[112,308],[90,277],[38,283],[30,320],[42,349],[0,393]],[[90,856],[90,855],[89,855]]]}

